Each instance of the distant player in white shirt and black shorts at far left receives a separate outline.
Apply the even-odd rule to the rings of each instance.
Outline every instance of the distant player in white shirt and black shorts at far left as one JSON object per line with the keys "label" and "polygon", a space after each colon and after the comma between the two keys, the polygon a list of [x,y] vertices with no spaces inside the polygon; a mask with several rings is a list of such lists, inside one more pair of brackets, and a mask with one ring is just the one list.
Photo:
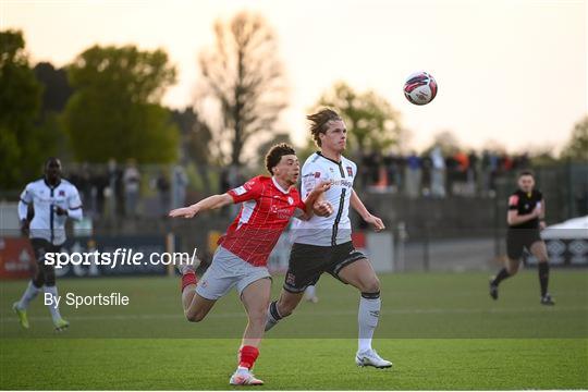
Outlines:
{"label": "distant player in white shirt and black shorts at far left", "polygon": [[[33,206],[34,218],[28,220],[28,207]],[[57,306],[58,291],[53,266],[45,265],[45,254],[59,253],[65,242],[65,221],[68,218],[82,219],[82,201],[77,188],[61,179],[61,161],[49,158],[45,162],[45,176],[28,183],[21,194],[19,219],[23,234],[28,235],[35,252],[36,271],[28,283],[21,301],[12,308],[19,316],[21,326],[28,329],[26,308],[42,290],[53,297],[48,305],[56,330],[61,331],[70,326]]]}

